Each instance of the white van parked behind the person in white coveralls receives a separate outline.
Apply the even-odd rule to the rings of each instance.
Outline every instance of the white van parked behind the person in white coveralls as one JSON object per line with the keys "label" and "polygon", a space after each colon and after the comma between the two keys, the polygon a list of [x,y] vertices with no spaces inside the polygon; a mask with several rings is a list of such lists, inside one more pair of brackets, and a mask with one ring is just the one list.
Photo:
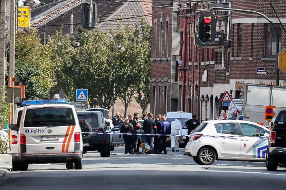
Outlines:
{"label": "white van parked behind the person in white coveralls", "polygon": [[[166,120],[168,122],[171,123],[175,119],[181,120],[181,124],[182,124],[182,128],[183,128],[183,135],[187,135],[188,129],[186,126],[184,126],[184,123],[187,120],[192,119],[192,113],[183,112],[183,111],[171,111],[171,112],[166,113]],[[182,139],[183,139],[182,146],[186,146],[186,144],[188,143],[188,138],[186,138],[186,136],[183,136]]]}

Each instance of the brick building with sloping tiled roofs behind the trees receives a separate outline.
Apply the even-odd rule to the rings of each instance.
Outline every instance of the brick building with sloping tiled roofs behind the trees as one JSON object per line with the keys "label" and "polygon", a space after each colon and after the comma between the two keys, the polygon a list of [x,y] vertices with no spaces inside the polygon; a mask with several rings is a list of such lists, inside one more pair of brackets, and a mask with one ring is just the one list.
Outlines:
{"label": "brick building with sloping tiled roofs behind the trees", "polygon": [[[50,0],[49,3],[56,2]],[[128,24],[130,20],[132,24],[140,22],[142,16],[151,24],[151,0],[144,1],[102,1],[92,0],[96,3],[98,27],[104,32],[109,32],[110,28],[115,29],[117,21],[115,19],[123,19],[121,24]],[[31,26],[37,28],[40,34],[41,42],[44,41],[44,32],[46,42],[62,27],[63,34],[74,35],[77,32],[78,25],[82,21],[82,4],[90,3],[89,0],[67,0],[56,3],[49,7],[45,7],[36,11],[32,11]],[[30,5],[33,7],[33,3]],[[39,5],[36,5],[39,6]],[[129,17],[135,17],[128,19]],[[125,19],[126,18],[126,19]],[[125,20],[124,20],[125,19]],[[115,31],[115,30],[114,30]],[[112,92],[110,92],[112,93]],[[136,95],[135,95],[136,96]],[[148,110],[149,108],[147,108]],[[115,102],[115,111],[124,113],[124,105],[118,98]],[[142,113],[140,105],[136,103],[134,97],[128,109],[128,114],[134,112]],[[112,117],[112,108],[109,117]]]}

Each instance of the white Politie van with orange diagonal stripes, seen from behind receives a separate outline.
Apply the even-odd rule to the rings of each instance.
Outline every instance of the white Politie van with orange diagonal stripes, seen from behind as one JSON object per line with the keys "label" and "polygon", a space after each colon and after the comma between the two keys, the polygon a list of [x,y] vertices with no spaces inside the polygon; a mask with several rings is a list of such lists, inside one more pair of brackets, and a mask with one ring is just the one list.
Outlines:
{"label": "white Politie van with orange diagonal stripes, seen from behind", "polygon": [[82,169],[82,134],[74,105],[28,105],[19,124],[10,128],[12,134],[18,131],[19,159],[12,159],[13,170],[27,170],[33,163],[66,163],[67,169]]}

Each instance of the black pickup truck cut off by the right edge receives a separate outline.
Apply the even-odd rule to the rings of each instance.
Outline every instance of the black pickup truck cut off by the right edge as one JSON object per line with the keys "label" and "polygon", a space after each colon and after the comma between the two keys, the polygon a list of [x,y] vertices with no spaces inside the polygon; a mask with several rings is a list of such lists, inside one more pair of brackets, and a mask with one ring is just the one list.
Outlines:
{"label": "black pickup truck cut off by the right edge", "polygon": [[281,110],[271,126],[266,167],[269,171],[276,171],[277,166],[286,166],[286,110]]}

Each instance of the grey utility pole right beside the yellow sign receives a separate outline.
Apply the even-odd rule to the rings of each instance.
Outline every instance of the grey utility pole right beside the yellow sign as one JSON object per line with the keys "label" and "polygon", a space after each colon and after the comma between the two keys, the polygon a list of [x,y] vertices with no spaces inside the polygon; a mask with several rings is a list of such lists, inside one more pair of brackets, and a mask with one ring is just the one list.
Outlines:
{"label": "grey utility pole right beside the yellow sign", "polygon": [[[11,0],[9,77],[14,77],[15,75],[15,32],[16,32],[15,28],[16,28],[15,0]],[[14,86],[14,83],[12,83],[11,86]]]}

